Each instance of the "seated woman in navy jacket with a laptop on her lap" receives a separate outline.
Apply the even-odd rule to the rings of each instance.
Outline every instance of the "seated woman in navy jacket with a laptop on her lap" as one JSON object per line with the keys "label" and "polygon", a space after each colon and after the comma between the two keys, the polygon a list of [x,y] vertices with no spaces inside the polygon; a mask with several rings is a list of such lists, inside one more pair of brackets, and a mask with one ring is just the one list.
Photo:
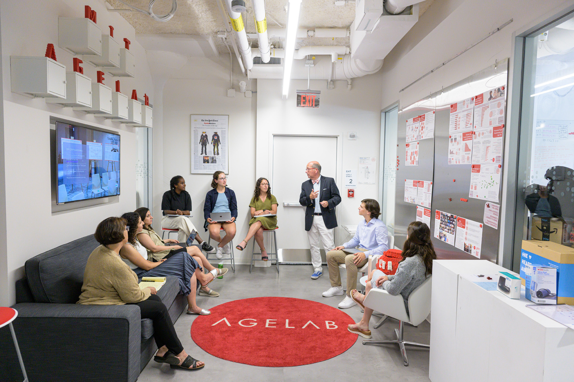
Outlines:
{"label": "seated woman in navy jacket with a laptop on her lap", "polygon": [[[231,254],[229,242],[234,238],[236,228],[235,219],[237,219],[237,200],[235,192],[227,188],[227,177],[223,171],[215,171],[214,178],[211,181],[212,190],[205,195],[205,204],[203,205],[203,215],[205,217],[205,231],[210,231],[211,239],[217,241],[215,257],[223,258],[222,252]],[[231,220],[213,221],[210,216],[212,212],[231,212]],[[223,228],[225,236],[219,235],[220,229]]]}

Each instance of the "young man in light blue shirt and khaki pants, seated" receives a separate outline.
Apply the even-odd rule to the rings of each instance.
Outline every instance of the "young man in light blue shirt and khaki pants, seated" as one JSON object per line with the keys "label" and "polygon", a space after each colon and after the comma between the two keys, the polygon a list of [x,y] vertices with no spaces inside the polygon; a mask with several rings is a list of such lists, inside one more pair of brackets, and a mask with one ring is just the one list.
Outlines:
{"label": "young man in light blue shirt and khaki pants, seated", "polygon": [[[331,288],[323,292],[324,297],[344,294],[339,264],[346,264],[347,267],[347,295],[339,303],[341,309],[356,305],[351,298],[351,290],[356,289],[357,286],[358,268],[363,267],[369,261],[369,255],[382,255],[389,249],[387,227],[385,223],[377,219],[381,215],[379,203],[374,199],[363,199],[359,206],[359,215],[363,216],[364,220],[357,225],[355,236],[347,243],[327,252]],[[351,248],[357,248],[356,253],[350,254],[343,251]]]}

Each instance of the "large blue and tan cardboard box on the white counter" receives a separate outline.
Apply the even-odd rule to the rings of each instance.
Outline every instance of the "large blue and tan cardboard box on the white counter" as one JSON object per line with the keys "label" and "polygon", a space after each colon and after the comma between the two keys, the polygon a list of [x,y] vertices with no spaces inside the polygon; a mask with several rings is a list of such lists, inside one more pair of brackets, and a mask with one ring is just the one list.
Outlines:
{"label": "large blue and tan cardboard box on the white counter", "polygon": [[574,305],[574,249],[553,241],[522,240],[520,278],[529,293],[533,267],[556,268],[557,303]]}

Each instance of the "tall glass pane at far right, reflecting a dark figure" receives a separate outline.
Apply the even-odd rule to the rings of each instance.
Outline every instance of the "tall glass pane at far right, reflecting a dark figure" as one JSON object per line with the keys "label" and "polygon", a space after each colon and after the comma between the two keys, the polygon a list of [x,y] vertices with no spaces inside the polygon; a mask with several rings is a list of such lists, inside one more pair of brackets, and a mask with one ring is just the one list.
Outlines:
{"label": "tall glass pane at far right, reflecting a dark figure", "polygon": [[571,246],[574,219],[574,18],[523,41],[513,263],[521,239]]}

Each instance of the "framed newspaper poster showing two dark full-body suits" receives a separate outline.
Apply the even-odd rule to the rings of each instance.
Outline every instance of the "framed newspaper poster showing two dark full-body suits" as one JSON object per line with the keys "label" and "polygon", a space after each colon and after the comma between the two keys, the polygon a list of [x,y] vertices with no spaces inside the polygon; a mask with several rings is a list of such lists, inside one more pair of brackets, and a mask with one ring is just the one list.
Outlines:
{"label": "framed newspaper poster showing two dark full-body suits", "polygon": [[191,173],[228,174],[228,115],[191,115]]}

